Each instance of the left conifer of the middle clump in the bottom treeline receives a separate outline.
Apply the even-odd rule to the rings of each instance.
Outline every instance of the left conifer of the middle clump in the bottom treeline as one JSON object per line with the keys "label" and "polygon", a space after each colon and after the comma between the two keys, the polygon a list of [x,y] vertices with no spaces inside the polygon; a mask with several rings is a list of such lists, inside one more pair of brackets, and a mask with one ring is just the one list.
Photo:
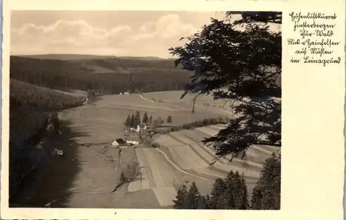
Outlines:
{"label": "left conifer of the middle clump in the bottom treeline", "polygon": [[217,178],[210,193],[210,206],[212,209],[224,209],[226,207],[226,198],[224,192],[226,183],[223,178]]}

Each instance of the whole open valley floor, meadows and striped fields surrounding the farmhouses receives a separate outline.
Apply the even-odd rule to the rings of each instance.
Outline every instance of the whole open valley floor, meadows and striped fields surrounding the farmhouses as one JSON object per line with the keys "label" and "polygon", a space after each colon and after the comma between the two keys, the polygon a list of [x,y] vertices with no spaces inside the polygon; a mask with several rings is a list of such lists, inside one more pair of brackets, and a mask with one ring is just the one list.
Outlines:
{"label": "whole open valley floor, meadows and striped fields surrounding the farmhouses", "polygon": [[[33,175],[18,203],[66,208],[172,208],[172,199],[184,180],[188,185],[194,181],[201,194],[207,194],[215,178],[224,177],[230,169],[244,172],[252,190],[264,160],[275,149],[251,148],[247,169],[240,161],[228,164],[227,158],[210,166],[213,149],[202,145],[201,140],[215,134],[221,125],[156,136],[154,142],[160,145],[156,149],[136,147],[119,153],[118,148],[110,147],[112,140],[123,138],[125,119],[135,111],[141,116],[146,111],[153,118],[172,116],[176,125],[229,116],[223,109],[203,104],[192,114],[186,102],[152,102],[142,95],[104,95],[95,103],[63,111],[61,118],[68,125],[51,145],[62,149],[65,156],[54,158],[51,166]],[[121,165],[131,159],[138,161],[140,175],[117,187]]]}

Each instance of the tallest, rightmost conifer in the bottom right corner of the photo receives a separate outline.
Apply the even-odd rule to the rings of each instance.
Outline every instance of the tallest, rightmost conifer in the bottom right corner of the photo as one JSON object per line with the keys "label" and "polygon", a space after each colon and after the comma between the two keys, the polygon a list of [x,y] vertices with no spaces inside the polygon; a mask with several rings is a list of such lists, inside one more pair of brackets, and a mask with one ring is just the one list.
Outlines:
{"label": "tallest, rightmost conifer in the bottom right corner of the photo", "polygon": [[281,185],[281,157],[273,153],[264,162],[264,167],[251,196],[254,210],[279,210]]}

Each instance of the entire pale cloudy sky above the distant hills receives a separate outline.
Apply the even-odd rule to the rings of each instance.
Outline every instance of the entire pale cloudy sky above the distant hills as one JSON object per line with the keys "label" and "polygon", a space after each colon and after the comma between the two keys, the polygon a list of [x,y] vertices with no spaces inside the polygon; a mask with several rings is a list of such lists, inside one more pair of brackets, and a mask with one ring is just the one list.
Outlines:
{"label": "entire pale cloudy sky above the distant hills", "polygon": [[[217,17],[223,17],[217,12]],[[12,11],[11,54],[171,57],[215,12]]]}

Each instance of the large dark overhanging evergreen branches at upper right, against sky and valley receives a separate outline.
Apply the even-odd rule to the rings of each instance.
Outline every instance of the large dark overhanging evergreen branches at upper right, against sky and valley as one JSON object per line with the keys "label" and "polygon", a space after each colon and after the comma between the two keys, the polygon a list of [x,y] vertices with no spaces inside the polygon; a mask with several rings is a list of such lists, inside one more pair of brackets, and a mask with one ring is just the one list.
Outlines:
{"label": "large dark overhanging evergreen branches at upper right, against sky and valley", "polygon": [[[242,19],[230,19],[235,13]],[[227,16],[211,19],[170,53],[178,57],[176,66],[193,73],[182,98],[212,94],[231,102],[236,117],[203,143],[214,147],[217,157],[245,158],[251,145],[281,146],[282,35],[268,28],[268,22],[281,23],[281,13]]]}

